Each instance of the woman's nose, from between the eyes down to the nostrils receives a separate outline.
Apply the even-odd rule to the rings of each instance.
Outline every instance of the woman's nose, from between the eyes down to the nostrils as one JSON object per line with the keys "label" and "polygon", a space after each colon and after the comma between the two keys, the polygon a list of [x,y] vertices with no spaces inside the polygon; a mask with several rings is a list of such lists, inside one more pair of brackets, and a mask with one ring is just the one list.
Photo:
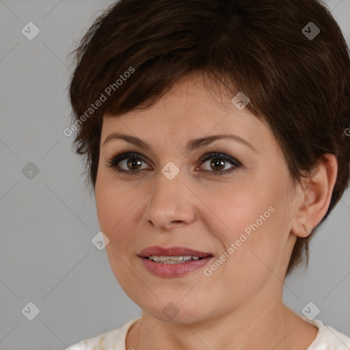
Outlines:
{"label": "woman's nose, from between the eyes down to the nostrils", "polygon": [[183,182],[181,172],[172,180],[159,172],[156,181],[144,219],[161,231],[191,224],[196,219],[196,196]]}

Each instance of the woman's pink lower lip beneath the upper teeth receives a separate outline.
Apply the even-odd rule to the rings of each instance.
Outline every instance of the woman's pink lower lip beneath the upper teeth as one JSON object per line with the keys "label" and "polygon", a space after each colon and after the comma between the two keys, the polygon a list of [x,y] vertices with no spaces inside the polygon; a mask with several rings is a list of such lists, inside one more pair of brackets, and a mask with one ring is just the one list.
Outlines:
{"label": "woman's pink lower lip beneath the upper teeth", "polygon": [[154,262],[148,258],[139,258],[144,263],[144,267],[151,273],[161,277],[176,277],[179,275],[185,275],[191,271],[195,271],[206,265],[206,263],[213,258],[213,256],[207,256],[200,260],[191,260],[188,262],[178,262],[177,264],[163,264],[163,262]]}

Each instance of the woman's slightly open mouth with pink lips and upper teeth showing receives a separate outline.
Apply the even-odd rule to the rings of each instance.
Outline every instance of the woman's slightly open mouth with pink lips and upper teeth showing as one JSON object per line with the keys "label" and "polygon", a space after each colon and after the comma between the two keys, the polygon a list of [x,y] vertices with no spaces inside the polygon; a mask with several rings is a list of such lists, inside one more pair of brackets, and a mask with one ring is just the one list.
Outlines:
{"label": "woman's slightly open mouth with pink lips and upper teeth showing", "polygon": [[199,252],[187,247],[148,247],[137,254],[144,267],[154,275],[175,277],[200,269],[213,258],[209,252]]}

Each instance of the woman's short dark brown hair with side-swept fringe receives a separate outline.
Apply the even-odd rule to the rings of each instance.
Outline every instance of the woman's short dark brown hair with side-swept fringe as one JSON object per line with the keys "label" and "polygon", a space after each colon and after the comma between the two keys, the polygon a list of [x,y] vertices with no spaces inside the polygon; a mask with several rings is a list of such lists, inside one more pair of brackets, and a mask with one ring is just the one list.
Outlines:
{"label": "woman's short dark brown hair with side-swept fringe", "polygon": [[[195,70],[230,96],[241,91],[250,98],[247,108],[271,127],[293,180],[323,154],[336,155],[338,176],[321,223],[349,185],[349,47],[317,0],[120,0],[72,54],[73,144],[85,154],[93,188],[103,115],[148,108]],[[304,260],[303,251],[308,266],[314,232],[297,237],[286,275]]]}

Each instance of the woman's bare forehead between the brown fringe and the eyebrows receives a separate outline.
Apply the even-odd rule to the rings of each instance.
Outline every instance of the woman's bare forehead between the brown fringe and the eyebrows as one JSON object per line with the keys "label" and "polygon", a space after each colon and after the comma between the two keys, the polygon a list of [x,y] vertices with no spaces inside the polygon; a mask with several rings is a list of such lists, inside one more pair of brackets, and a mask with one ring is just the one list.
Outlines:
{"label": "woman's bare forehead between the brown fringe and the eyebrows", "polygon": [[106,113],[101,139],[103,142],[115,131],[148,139],[148,143],[155,137],[192,139],[232,132],[252,143],[266,144],[266,137],[271,137],[267,126],[247,108],[238,109],[232,104],[232,97],[228,92],[215,94],[206,89],[202,74],[192,74],[177,81],[148,109],[120,116]]}

